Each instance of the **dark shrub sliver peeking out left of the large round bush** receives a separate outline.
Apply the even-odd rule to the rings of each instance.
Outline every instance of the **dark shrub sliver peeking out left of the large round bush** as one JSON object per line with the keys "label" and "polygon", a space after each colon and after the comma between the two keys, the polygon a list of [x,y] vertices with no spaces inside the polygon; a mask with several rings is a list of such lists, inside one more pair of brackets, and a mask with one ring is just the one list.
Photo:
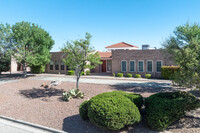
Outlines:
{"label": "dark shrub sliver peeking out left of the large round bush", "polygon": [[88,120],[88,101],[84,101],[79,107],[79,114],[83,120]]}

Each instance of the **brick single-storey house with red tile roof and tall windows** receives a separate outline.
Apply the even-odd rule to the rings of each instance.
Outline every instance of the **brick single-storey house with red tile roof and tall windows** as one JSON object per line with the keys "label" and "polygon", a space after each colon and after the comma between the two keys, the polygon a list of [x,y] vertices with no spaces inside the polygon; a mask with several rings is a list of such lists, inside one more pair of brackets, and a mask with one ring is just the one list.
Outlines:
{"label": "brick single-storey house with red tile roof and tall windows", "polygon": [[[102,64],[91,69],[91,73],[127,73],[151,74],[152,77],[161,77],[161,67],[175,65],[172,58],[160,49],[150,48],[143,45],[142,49],[137,46],[120,42],[106,47],[107,52],[98,51]],[[46,65],[46,73],[66,74],[70,69],[63,59],[67,58],[64,52],[51,52],[51,61]],[[30,68],[29,68],[30,69]],[[11,61],[11,71],[22,70],[20,64]]]}

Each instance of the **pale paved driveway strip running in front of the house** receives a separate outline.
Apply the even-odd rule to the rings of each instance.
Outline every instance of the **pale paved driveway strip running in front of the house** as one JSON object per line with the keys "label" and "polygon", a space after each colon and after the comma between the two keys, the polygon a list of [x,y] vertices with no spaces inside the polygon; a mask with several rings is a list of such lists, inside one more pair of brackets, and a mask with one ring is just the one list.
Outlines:
{"label": "pale paved driveway strip running in front of the house", "polygon": [[[32,77],[32,80],[47,80],[47,81],[62,81],[62,82],[76,82],[76,77],[61,77],[61,76],[36,76]],[[80,78],[80,83],[90,83],[90,84],[106,84],[106,85],[124,85],[124,86],[141,86],[141,87],[170,87],[171,81],[169,80],[153,80],[153,79],[130,79],[130,80],[120,80],[117,79],[103,79],[103,78]]]}

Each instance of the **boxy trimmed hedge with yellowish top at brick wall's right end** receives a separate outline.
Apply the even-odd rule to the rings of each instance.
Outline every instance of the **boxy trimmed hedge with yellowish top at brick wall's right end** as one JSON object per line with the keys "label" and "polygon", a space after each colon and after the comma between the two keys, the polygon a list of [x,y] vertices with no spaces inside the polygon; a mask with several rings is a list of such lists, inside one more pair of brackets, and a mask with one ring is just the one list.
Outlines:
{"label": "boxy trimmed hedge with yellowish top at brick wall's right end", "polygon": [[161,67],[161,75],[164,79],[173,79],[173,75],[175,72],[179,70],[179,66],[162,66]]}

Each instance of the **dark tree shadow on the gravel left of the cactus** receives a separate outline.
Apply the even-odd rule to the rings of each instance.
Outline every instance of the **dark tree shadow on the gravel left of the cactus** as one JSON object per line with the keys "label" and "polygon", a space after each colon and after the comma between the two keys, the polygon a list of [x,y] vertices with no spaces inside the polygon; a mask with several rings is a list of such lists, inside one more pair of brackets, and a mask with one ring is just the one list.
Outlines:
{"label": "dark tree shadow on the gravel left of the cactus", "polygon": [[63,89],[56,88],[33,88],[31,90],[20,90],[20,94],[26,98],[41,98],[41,97],[52,97],[52,96],[62,96]]}

